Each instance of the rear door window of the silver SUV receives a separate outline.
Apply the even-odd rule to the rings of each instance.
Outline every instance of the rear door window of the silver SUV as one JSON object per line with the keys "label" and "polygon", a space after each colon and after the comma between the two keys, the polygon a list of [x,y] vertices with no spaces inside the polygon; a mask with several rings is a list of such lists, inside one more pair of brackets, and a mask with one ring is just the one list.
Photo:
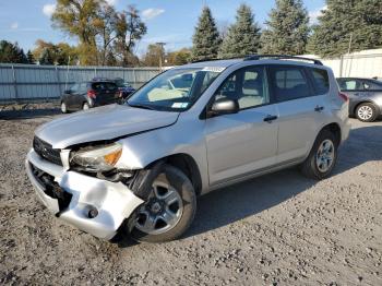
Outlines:
{"label": "rear door window of the silver SUV", "polygon": [[273,92],[277,102],[287,102],[311,95],[303,69],[298,67],[271,67]]}

